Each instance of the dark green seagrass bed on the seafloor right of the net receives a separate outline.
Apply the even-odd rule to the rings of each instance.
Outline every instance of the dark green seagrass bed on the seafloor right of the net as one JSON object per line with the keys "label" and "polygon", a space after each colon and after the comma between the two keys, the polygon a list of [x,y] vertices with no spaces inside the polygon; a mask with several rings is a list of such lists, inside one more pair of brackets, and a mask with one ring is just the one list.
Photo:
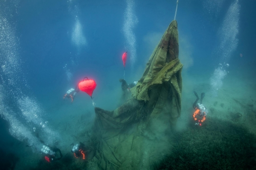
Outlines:
{"label": "dark green seagrass bed on the seafloor right of the net", "polygon": [[255,170],[256,136],[247,128],[216,118],[191,124],[173,136],[173,149],[158,170]]}

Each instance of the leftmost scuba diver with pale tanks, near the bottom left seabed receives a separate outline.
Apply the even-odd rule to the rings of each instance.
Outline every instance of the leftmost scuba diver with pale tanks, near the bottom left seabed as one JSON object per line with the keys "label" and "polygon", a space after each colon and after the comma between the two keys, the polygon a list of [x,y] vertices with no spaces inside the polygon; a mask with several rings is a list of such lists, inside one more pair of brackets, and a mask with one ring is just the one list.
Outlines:
{"label": "leftmost scuba diver with pale tanks, near the bottom left seabed", "polygon": [[61,153],[60,149],[58,149],[58,148],[51,149],[48,146],[43,145],[41,152],[46,154],[45,159],[48,162],[58,161],[62,158],[62,153]]}

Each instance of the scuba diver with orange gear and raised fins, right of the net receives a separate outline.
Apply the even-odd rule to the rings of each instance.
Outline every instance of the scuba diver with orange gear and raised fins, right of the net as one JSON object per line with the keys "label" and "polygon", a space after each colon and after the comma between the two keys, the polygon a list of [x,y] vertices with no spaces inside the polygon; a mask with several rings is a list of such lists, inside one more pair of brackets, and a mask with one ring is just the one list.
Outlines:
{"label": "scuba diver with orange gear and raised fins, right of the net", "polygon": [[195,112],[193,113],[193,118],[196,122],[195,125],[200,125],[201,126],[202,125],[201,123],[203,121],[205,121],[206,115],[208,113],[208,110],[206,109],[206,107],[204,107],[202,105],[202,99],[204,98],[205,93],[201,93],[200,103],[197,103],[198,100],[199,100],[199,97],[198,97],[198,95],[195,91],[194,91],[194,94],[196,96],[196,100],[193,103],[193,108],[195,109]]}

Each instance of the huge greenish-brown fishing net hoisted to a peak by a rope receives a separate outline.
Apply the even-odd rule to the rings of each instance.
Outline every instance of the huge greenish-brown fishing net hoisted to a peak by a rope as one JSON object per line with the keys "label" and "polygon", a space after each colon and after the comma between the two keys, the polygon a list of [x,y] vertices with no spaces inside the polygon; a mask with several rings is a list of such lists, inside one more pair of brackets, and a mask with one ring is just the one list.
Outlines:
{"label": "huge greenish-brown fishing net hoisted to a peak by a rope", "polygon": [[170,150],[181,113],[182,63],[177,22],[171,22],[131,97],[113,111],[95,107],[90,139],[96,170],[153,169]]}

